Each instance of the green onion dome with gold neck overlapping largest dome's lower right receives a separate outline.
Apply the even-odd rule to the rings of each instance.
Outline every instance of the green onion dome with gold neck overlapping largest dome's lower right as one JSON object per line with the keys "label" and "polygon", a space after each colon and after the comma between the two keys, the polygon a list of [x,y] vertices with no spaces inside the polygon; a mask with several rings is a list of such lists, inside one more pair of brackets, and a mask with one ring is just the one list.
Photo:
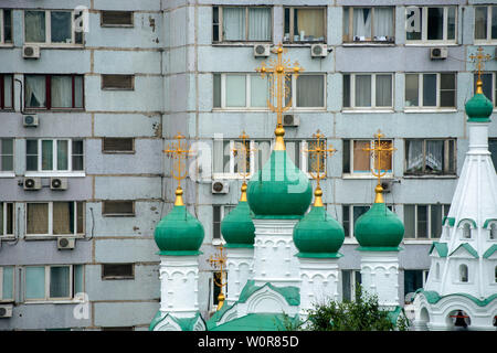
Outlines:
{"label": "green onion dome with gold neck overlapping largest dome's lower right", "polygon": [[[322,191],[316,190],[316,201]],[[313,206],[294,228],[294,244],[298,257],[340,257],[338,249],[343,244],[343,227],[332,218],[322,205]]]}

